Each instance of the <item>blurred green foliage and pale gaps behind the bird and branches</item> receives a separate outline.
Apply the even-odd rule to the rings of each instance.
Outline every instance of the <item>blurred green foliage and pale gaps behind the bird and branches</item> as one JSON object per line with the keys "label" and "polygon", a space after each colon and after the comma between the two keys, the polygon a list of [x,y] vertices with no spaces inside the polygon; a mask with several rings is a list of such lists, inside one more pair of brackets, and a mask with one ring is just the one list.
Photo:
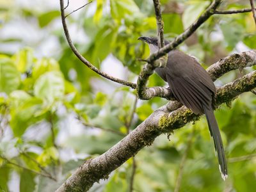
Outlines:
{"label": "blurred green foliage and pale gaps behind the bird and branches", "polygon": [[[64,38],[58,3],[0,1],[0,191],[54,191],[85,159],[104,153],[167,102],[137,100],[134,90],[77,60]],[[210,1],[161,3],[164,35],[172,40]],[[70,1],[66,13],[83,4]],[[249,1],[227,0],[219,9],[241,8],[250,8]],[[152,0],[95,0],[67,22],[77,49],[93,65],[136,82],[143,66],[138,59],[149,54],[137,39],[156,35]],[[255,47],[252,13],[240,13],[212,16],[179,49],[206,68]],[[216,86],[252,70],[228,72]],[[156,85],[166,86],[154,74],[148,86]],[[129,159],[90,191],[128,191],[132,170],[133,191],[254,191],[256,96],[243,93],[215,114],[228,158],[225,182],[202,117],[174,131],[170,140],[159,136],[134,157],[135,170]]]}

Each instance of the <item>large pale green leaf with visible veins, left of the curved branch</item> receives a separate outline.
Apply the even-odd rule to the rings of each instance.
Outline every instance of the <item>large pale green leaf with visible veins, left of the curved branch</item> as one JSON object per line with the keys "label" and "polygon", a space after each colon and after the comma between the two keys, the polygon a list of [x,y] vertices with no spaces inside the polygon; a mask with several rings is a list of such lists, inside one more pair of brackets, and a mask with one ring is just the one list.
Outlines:
{"label": "large pale green leaf with visible veins, left of the curved branch", "polygon": [[34,85],[36,97],[52,104],[54,100],[63,99],[65,83],[61,72],[52,71],[40,76]]}

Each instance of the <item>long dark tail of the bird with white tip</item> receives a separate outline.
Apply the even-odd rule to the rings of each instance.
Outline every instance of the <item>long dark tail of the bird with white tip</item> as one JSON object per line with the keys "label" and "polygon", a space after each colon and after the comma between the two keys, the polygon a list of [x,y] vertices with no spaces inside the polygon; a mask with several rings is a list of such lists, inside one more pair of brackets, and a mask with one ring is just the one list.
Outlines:
{"label": "long dark tail of the bird with white tip", "polygon": [[227,162],[226,162],[225,152],[224,152],[223,143],[220,135],[220,129],[216,122],[213,109],[212,108],[207,109],[204,107],[204,111],[205,111],[205,116],[207,118],[209,130],[211,132],[211,136],[214,141],[214,147],[218,155],[221,177],[223,180],[225,180],[228,177],[228,171],[227,171]]}

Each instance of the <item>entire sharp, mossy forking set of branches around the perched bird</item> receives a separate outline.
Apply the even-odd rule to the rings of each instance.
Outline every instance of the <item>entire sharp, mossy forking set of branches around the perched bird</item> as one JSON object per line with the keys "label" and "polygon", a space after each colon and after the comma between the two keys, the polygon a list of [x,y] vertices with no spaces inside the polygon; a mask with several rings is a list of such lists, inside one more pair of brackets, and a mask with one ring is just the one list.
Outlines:
{"label": "entire sharp, mossy forking set of branches around the perched bird", "polygon": [[[161,4],[159,0],[153,0],[156,19],[157,19],[157,36],[159,38],[159,51],[151,54],[147,59],[147,64],[143,67],[138,77],[137,84],[129,81],[118,79],[100,71],[87,61],[77,51],[68,33],[67,24],[65,22],[65,13],[63,0],[60,0],[61,5],[61,19],[63,29],[74,54],[81,60],[87,67],[97,72],[102,77],[115,81],[116,83],[130,86],[137,90],[140,99],[151,99],[153,97],[164,97],[172,99],[172,95],[168,88],[152,87],[147,88],[148,78],[154,73],[156,67],[164,67],[167,61],[168,52],[172,51],[175,47],[180,45],[186,38],[192,35],[211,15],[213,14],[230,14],[235,11],[218,11],[217,8],[221,4],[221,0],[214,0],[205,10],[204,13],[188,28],[184,33],[180,34],[170,44],[164,46],[163,38],[163,20],[161,18]],[[252,8],[249,11],[255,10]],[[248,10],[243,10],[248,12]],[[236,13],[242,13],[241,10],[236,10]],[[213,81],[218,77],[236,68],[244,68],[256,65],[256,51],[247,51],[240,54],[233,54],[227,58],[223,58],[217,63],[214,63],[207,69]],[[256,87],[256,71],[251,72],[235,81],[218,88],[216,105],[231,102],[237,95],[243,92],[250,92]],[[88,191],[95,182],[100,179],[107,178],[109,173],[113,172],[118,166],[121,166],[127,159],[135,156],[141,148],[150,145],[157,136],[163,132],[171,132],[173,129],[178,129],[188,122],[198,120],[199,116],[195,115],[191,110],[182,106],[180,102],[170,101],[165,106],[157,109],[148,118],[142,122],[136,129],[130,132],[123,140],[116,143],[107,152],[84,162],[75,173],[73,173],[65,183],[63,183],[58,192],[62,191]]]}

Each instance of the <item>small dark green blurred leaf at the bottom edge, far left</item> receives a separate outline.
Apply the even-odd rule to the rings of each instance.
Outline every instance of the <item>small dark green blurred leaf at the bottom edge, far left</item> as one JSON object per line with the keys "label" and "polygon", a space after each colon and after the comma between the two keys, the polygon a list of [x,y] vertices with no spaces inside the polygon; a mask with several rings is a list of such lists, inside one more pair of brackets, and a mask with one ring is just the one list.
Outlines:
{"label": "small dark green blurred leaf at the bottom edge, far left", "polygon": [[35,190],[35,173],[22,170],[20,174],[20,192],[33,192]]}

